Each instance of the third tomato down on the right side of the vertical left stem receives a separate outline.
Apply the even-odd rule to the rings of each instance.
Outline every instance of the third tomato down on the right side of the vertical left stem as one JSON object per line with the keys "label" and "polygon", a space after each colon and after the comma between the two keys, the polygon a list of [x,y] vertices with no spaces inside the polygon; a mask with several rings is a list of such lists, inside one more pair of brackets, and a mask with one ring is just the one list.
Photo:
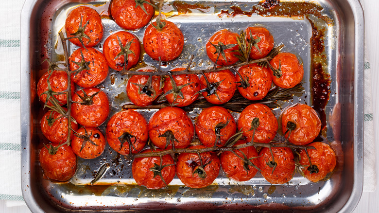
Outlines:
{"label": "third tomato down on the right side of the vertical left stem", "polygon": [[[90,98],[96,92],[98,93]],[[97,88],[81,89],[72,96],[72,100],[82,102],[71,105],[71,115],[79,124],[97,127],[108,118],[109,101],[104,91]]]}

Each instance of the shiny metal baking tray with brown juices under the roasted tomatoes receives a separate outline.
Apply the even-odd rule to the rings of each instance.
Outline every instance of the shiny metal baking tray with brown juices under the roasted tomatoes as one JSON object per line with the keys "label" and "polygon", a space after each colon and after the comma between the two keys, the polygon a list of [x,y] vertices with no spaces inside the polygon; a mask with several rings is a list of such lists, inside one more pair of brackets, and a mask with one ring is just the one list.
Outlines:
{"label": "shiny metal baking tray with brown juices under the roasted tomatoes", "polygon": [[[63,60],[57,34],[63,28],[66,14],[79,4],[88,4],[103,17],[103,40],[121,30],[107,18],[109,0],[27,0],[21,12],[21,176],[22,193],[32,212],[123,212],[123,211],[218,211],[218,212],[352,212],[362,194],[363,180],[363,12],[358,0],[314,0],[316,11],[322,16],[304,18],[299,10],[304,2],[291,2],[292,15],[286,15],[282,1],[277,5],[282,13],[255,11],[251,14],[231,13],[231,6],[251,11],[257,0],[245,1],[169,1],[163,12],[166,18],[180,26],[186,38],[181,56],[163,67],[169,70],[186,66],[194,54],[192,69],[211,66],[205,52],[207,39],[217,30],[228,28],[240,32],[247,26],[265,26],[274,35],[275,43],[284,44],[282,51],[298,55],[303,62],[305,92],[292,101],[282,102],[282,108],[294,103],[312,103],[311,74],[316,59],[324,60],[323,68],[330,76],[329,101],[324,108],[327,128],[323,134],[337,151],[338,167],[325,182],[311,183],[298,174],[284,185],[271,185],[257,174],[250,181],[238,183],[229,180],[221,171],[215,182],[203,189],[185,187],[177,178],[166,189],[147,190],[139,187],[131,175],[131,163],[106,147],[102,156],[94,160],[78,158],[75,176],[68,183],[52,183],[42,178],[38,152],[46,139],[39,121],[43,115],[41,104],[35,97],[35,85],[46,69],[45,58]],[[196,3],[197,6],[188,4]],[[310,3],[310,2],[305,2]],[[176,5],[176,6],[175,6]],[[308,4],[309,5],[309,4]],[[318,9],[317,9],[318,8]],[[259,8],[258,8],[259,9]],[[301,8],[300,8],[301,9]],[[228,10],[228,12],[226,12]],[[218,16],[220,15],[220,16]],[[234,17],[233,17],[234,16]],[[323,17],[324,16],[324,17]],[[330,18],[331,22],[325,24]],[[322,21],[324,19],[324,22]],[[329,21],[330,21],[329,20]],[[321,23],[325,50],[311,53],[312,24]],[[324,24],[322,24],[324,23]],[[140,41],[142,28],[133,31]],[[317,33],[317,32],[316,32]],[[102,44],[103,41],[100,43]],[[72,53],[77,47],[69,45]],[[96,47],[101,50],[101,45]],[[323,57],[324,55],[324,57]],[[319,57],[321,56],[321,57]],[[156,66],[147,55],[147,65]],[[125,94],[127,76],[110,70],[103,89],[111,104],[112,116],[128,103]],[[316,103],[317,104],[317,103]],[[142,110],[148,119],[154,110]],[[195,112],[196,113],[198,111]],[[275,109],[279,117],[281,108]],[[238,113],[234,113],[237,117]],[[109,117],[110,117],[109,116]],[[191,116],[192,118],[194,116]],[[109,118],[108,118],[109,119]],[[106,124],[106,122],[105,122]],[[101,126],[104,130],[105,124]],[[87,185],[103,163],[110,168],[94,186]]]}

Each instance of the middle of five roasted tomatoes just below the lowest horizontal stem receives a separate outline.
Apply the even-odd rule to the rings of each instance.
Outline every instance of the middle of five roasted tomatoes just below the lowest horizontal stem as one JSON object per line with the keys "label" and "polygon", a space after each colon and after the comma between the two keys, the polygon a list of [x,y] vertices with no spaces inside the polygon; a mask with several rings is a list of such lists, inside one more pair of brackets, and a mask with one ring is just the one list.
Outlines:
{"label": "middle of five roasted tomatoes just below the lowest horizontal stem", "polygon": [[[234,146],[244,143],[246,141],[238,141]],[[248,146],[236,149],[233,152],[226,151],[221,153],[220,156],[221,166],[226,175],[236,181],[247,181],[253,178],[258,172],[256,168],[259,166],[258,152],[255,147]]]}

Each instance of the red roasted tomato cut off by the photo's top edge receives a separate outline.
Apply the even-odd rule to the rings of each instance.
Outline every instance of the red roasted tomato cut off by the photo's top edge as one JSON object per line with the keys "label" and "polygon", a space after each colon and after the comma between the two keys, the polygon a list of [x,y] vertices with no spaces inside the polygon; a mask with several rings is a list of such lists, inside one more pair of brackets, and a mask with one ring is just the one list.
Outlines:
{"label": "red roasted tomato cut off by the photo's top edge", "polygon": [[154,8],[149,3],[150,0],[113,0],[110,12],[121,28],[137,30],[149,23],[154,15]]}

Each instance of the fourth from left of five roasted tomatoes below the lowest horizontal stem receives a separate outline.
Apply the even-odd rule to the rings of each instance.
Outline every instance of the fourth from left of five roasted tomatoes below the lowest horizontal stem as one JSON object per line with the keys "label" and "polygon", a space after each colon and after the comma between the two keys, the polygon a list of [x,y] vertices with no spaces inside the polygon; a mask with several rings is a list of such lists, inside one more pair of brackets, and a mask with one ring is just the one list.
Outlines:
{"label": "fourth from left of five roasted tomatoes below the lowest horizontal stem", "polygon": [[[262,176],[272,184],[283,184],[290,181],[295,171],[295,160],[292,150],[288,147],[264,147],[259,152],[259,168]],[[276,167],[275,167],[276,166]],[[273,172],[273,169],[275,170]]]}

